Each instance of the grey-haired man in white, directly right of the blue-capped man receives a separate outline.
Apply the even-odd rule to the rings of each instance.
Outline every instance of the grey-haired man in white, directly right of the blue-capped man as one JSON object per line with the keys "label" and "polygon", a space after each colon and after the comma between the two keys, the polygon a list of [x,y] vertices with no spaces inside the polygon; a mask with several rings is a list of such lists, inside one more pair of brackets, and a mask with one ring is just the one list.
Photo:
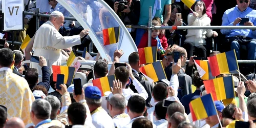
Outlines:
{"label": "grey-haired man in white, directly right of the blue-capped man", "polygon": [[113,118],[114,125],[121,128],[130,122],[130,116],[124,113],[126,109],[126,99],[121,94],[115,94],[111,97],[109,103],[109,114]]}

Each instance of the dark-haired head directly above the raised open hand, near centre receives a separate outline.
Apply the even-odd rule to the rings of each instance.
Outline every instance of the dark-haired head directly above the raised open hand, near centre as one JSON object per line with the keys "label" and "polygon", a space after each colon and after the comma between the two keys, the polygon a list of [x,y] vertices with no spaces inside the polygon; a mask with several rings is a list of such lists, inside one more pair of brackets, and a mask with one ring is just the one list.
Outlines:
{"label": "dark-haired head directly above the raised open hand, near centre", "polygon": [[115,76],[117,80],[119,79],[122,82],[122,86],[126,86],[126,82],[129,79],[129,70],[124,66],[120,66],[115,69]]}

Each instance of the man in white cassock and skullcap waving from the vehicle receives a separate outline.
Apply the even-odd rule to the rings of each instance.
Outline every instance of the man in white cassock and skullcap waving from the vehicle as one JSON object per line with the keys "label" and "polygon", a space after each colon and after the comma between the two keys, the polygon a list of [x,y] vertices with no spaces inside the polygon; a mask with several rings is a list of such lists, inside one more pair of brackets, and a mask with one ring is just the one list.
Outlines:
{"label": "man in white cassock and skullcap waving from the vehicle", "polygon": [[[34,56],[44,56],[47,60],[47,66],[52,73],[52,65],[61,65],[61,49],[67,49],[81,44],[81,38],[88,34],[89,29],[84,29],[79,35],[62,36],[58,30],[64,23],[64,16],[59,11],[53,11],[49,21],[43,24],[33,36],[26,48],[26,59],[30,60],[30,52],[34,49]],[[35,68],[41,75],[38,63],[32,62],[30,68]]]}

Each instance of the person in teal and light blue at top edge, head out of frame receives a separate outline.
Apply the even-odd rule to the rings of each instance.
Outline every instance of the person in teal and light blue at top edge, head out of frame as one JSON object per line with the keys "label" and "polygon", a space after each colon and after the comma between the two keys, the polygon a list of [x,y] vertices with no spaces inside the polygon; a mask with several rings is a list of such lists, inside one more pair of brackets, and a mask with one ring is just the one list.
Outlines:
{"label": "person in teal and light blue at top edge, head out of frame", "polygon": [[[163,26],[168,26],[167,22],[172,12],[171,0],[140,0],[140,18],[138,25],[148,25],[149,7],[152,7],[152,19],[159,17]],[[163,10],[165,9],[165,15],[163,17]],[[142,35],[146,32],[145,29],[137,29],[135,44],[139,46]],[[165,34],[165,30],[162,30],[161,35]]]}

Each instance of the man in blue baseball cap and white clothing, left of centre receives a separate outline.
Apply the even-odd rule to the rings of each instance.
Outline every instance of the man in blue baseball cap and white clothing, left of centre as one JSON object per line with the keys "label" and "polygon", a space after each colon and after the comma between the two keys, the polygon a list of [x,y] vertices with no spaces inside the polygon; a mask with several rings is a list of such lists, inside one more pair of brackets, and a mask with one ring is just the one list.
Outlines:
{"label": "man in blue baseball cap and white clothing, left of centre", "polygon": [[98,87],[86,87],[86,89],[84,90],[84,94],[92,115],[93,125],[97,128],[113,128],[113,119],[101,107],[101,92]]}

